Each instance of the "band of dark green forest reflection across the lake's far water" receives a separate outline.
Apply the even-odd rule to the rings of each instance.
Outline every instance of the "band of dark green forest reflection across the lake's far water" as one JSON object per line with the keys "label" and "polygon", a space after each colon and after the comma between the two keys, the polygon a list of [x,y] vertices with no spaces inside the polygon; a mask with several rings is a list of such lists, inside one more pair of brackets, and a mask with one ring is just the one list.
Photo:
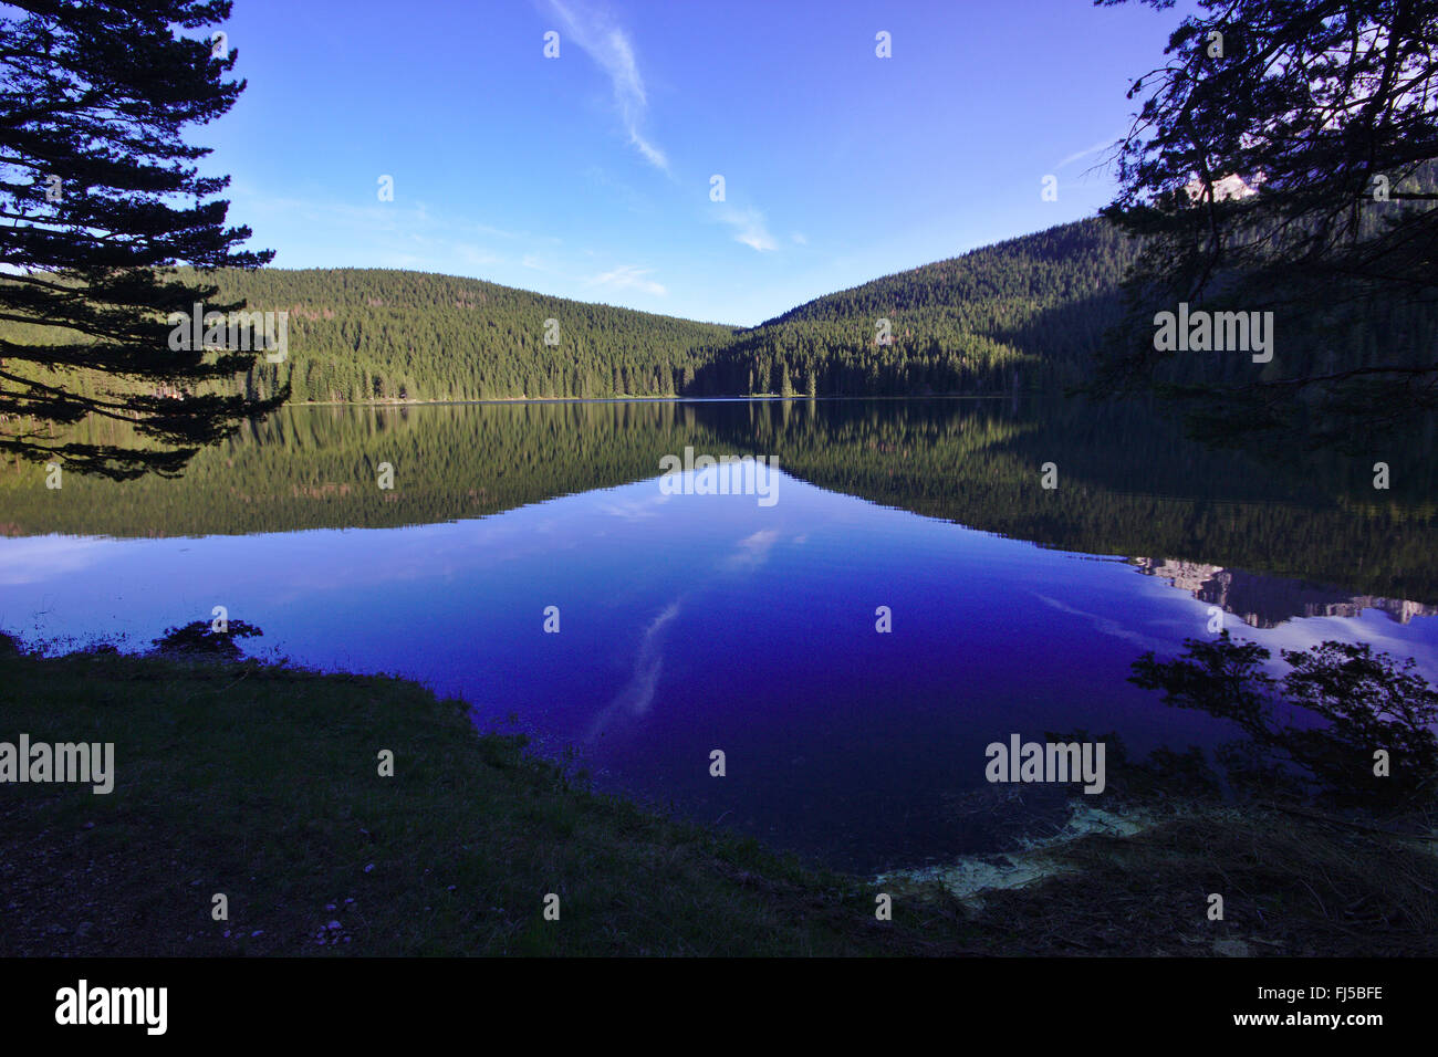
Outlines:
{"label": "band of dark green forest reflection across the lake's far water", "polygon": [[[91,439],[128,440],[114,429]],[[0,532],[429,523],[654,477],[660,456],[693,444],[775,454],[820,488],[1044,546],[1241,568],[1247,578],[1229,578],[1227,597],[1264,621],[1363,595],[1438,603],[1438,473],[1432,439],[1419,440],[1375,454],[1392,477],[1392,490],[1375,490],[1373,460],[1209,452],[1139,408],[1077,401],[296,407],[203,452],[178,480],[68,475],[47,490],[40,466],[0,467]],[[385,462],[393,490],[377,486]],[[1045,462],[1058,467],[1057,489],[1040,486]],[[1254,574],[1309,582],[1260,587]],[[1310,597],[1313,584],[1333,588]]]}

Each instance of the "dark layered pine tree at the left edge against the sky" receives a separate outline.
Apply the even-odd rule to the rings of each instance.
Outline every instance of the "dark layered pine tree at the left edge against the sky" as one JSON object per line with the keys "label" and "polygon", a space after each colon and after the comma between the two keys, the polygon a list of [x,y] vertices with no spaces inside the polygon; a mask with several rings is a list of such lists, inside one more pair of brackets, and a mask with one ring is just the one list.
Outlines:
{"label": "dark layered pine tree at the left edge against the sky", "polygon": [[[250,230],[226,227],[229,203],[214,197],[229,178],[200,177],[210,150],[184,139],[244,83],[226,79],[237,52],[180,30],[229,14],[229,0],[0,10],[0,452],[118,479],[173,475],[283,400],[279,388],[204,388],[246,370],[250,352],[168,341],[167,316],[193,302],[243,306],[214,303],[214,288],[175,265],[249,269],[273,256],[237,249]],[[66,431],[89,417],[134,423],[147,443]]]}

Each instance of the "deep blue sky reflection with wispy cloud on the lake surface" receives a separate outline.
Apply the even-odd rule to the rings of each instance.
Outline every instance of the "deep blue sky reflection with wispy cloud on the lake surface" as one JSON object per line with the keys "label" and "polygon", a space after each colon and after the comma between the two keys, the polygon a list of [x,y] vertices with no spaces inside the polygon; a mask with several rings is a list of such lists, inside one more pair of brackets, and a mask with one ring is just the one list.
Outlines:
{"label": "deep blue sky reflection with wispy cloud on the lake surface", "polygon": [[[1206,637],[1188,592],[788,476],[777,495],[649,480],[417,528],[0,539],[0,627],[139,649],[226,605],[265,630],[252,651],[420,677],[486,723],[515,712],[541,745],[577,745],[604,785],[860,869],[974,847],[946,798],[986,787],[984,746],[1011,732],[1114,731],[1137,754],[1229,736],[1126,682],[1140,651]],[[1422,617],[1227,626],[1274,651],[1369,641],[1438,669]]]}

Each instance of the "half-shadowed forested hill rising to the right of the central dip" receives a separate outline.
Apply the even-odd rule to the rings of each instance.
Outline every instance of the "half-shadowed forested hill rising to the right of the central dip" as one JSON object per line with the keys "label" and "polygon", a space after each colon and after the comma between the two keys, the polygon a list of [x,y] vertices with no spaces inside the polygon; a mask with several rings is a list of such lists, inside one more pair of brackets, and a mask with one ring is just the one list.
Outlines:
{"label": "half-shadowed forested hill rising to the right of the central dip", "polygon": [[[817,395],[975,393],[1077,381],[1120,316],[1136,255],[1091,219],[817,298],[738,334],[709,390]],[[883,321],[887,321],[884,342]]]}

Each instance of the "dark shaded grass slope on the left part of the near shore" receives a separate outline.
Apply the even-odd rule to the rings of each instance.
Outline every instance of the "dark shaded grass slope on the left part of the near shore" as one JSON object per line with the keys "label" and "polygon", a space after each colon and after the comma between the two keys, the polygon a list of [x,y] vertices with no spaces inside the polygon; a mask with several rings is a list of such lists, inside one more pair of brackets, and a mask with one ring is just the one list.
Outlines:
{"label": "dark shaded grass slope on the left part of the near shore", "polygon": [[[115,743],[115,790],[7,785],[0,953],[923,949],[861,884],[598,795],[384,676],[0,657],[0,739]],[[394,777],[377,754],[394,752]],[[229,920],[211,919],[224,893]],[[559,920],[544,897],[559,896]],[[339,928],[329,928],[338,922]]]}

